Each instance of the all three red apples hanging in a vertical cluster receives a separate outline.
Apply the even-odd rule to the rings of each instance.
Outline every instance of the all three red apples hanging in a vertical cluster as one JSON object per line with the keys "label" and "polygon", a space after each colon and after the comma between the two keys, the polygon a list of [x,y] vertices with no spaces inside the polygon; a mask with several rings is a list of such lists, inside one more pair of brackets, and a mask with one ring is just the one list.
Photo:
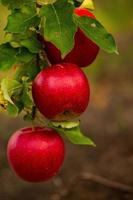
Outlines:
{"label": "all three red apples hanging in a vertical cluster", "polygon": [[[78,16],[95,18],[88,9],[76,8]],[[42,115],[52,121],[66,121],[80,116],[90,97],[89,82],[82,67],[96,58],[99,47],[80,29],[75,44],[64,58],[54,44],[46,41],[45,52],[51,66],[36,76],[32,85],[33,100]],[[12,169],[31,182],[52,178],[62,166],[65,146],[61,136],[51,128],[29,127],[12,135],[7,155]]]}

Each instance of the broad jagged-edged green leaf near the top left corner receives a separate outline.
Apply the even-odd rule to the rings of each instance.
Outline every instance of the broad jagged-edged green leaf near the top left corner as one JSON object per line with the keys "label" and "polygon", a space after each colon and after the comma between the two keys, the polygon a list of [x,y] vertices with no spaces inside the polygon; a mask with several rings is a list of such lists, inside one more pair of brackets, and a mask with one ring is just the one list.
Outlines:
{"label": "broad jagged-edged green leaf near the top left corner", "polygon": [[36,10],[31,6],[23,7],[21,10],[13,10],[8,17],[8,23],[5,28],[6,32],[24,33],[29,28],[39,25],[40,19],[36,14]]}

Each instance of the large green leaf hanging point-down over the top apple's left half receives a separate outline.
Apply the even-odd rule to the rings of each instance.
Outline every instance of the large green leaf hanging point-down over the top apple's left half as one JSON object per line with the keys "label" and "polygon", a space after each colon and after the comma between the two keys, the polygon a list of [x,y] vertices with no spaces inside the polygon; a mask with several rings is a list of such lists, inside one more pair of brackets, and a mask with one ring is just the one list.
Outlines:
{"label": "large green leaf hanging point-down over the top apple's left half", "polygon": [[74,6],[67,0],[42,7],[40,16],[44,17],[44,38],[53,43],[64,57],[74,46],[74,35],[77,30],[73,22]]}

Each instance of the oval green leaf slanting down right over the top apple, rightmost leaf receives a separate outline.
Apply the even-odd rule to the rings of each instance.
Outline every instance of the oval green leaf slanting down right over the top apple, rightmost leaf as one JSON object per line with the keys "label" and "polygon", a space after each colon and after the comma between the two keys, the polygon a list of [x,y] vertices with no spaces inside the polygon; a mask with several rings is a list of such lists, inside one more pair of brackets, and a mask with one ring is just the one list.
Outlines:
{"label": "oval green leaf slanting down right over the top apple, rightmost leaf", "polygon": [[74,14],[75,23],[92,39],[101,49],[108,53],[118,53],[117,46],[113,36],[96,19],[89,17],[79,17]]}

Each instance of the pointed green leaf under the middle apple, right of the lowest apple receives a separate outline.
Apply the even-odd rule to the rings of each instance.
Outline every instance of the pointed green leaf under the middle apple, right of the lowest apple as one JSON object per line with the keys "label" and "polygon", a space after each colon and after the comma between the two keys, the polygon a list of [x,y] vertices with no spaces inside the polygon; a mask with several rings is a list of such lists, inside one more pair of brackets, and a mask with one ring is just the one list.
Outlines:
{"label": "pointed green leaf under the middle apple, right of the lowest apple", "polygon": [[94,142],[90,138],[82,134],[78,124],[73,128],[63,128],[63,126],[61,127],[61,125],[59,125],[59,127],[54,126],[52,122],[52,124],[50,124],[50,127],[65,136],[73,144],[95,146]]}

